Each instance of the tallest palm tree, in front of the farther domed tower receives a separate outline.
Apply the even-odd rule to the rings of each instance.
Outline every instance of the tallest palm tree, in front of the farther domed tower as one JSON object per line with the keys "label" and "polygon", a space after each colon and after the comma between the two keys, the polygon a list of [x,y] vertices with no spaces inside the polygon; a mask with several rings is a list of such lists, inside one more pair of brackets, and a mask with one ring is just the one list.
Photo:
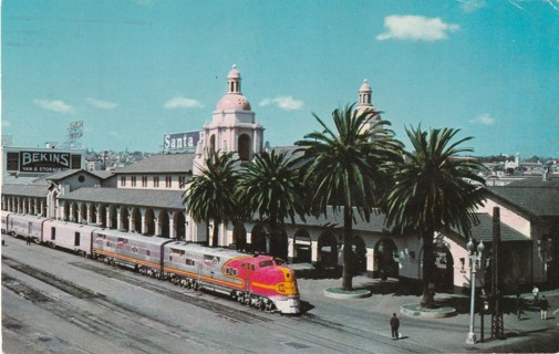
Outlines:
{"label": "tallest palm tree, in front of the farther domed tower", "polygon": [[315,114],[323,132],[304,136],[296,145],[303,152],[304,184],[311,185],[314,215],[343,210],[342,289],[353,289],[353,222],[355,212],[369,221],[389,178],[390,163],[401,158],[402,145],[387,129],[387,121],[375,119],[377,111],[358,112],[353,105],[332,112],[335,131]]}

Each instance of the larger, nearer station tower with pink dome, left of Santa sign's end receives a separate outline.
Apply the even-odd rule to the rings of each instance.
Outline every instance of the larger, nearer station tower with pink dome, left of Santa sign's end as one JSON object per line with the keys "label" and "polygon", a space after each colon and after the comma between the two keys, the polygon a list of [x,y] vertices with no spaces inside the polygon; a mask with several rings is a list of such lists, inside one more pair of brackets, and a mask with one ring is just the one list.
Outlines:
{"label": "larger, nearer station tower with pink dome, left of Santa sign's end", "polygon": [[199,175],[211,150],[234,152],[241,160],[250,160],[262,150],[263,127],[255,122],[255,112],[240,90],[240,73],[236,65],[227,75],[227,93],[219,100],[211,123],[204,126],[196,148],[194,175]]}

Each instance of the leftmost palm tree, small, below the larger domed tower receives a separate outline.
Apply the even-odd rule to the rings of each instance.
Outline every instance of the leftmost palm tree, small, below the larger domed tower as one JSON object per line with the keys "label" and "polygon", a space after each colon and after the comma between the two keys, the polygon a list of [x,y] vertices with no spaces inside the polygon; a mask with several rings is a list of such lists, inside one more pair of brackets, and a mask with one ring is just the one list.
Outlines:
{"label": "leftmost palm tree, small, below the larger domed tower", "polygon": [[183,195],[186,211],[196,222],[214,221],[211,246],[218,246],[219,225],[231,221],[238,212],[235,187],[238,176],[232,153],[210,152],[199,176]]}

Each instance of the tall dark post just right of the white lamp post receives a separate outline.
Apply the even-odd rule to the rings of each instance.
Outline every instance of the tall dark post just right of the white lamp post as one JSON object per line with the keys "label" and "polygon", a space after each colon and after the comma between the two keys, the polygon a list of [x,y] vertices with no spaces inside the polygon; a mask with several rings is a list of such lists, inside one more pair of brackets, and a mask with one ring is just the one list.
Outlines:
{"label": "tall dark post just right of the white lamp post", "polygon": [[500,248],[500,209],[493,208],[493,273],[491,273],[491,299],[494,301],[491,312],[491,339],[505,339],[505,325],[503,323],[501,293],[499,289],[499,248]]}

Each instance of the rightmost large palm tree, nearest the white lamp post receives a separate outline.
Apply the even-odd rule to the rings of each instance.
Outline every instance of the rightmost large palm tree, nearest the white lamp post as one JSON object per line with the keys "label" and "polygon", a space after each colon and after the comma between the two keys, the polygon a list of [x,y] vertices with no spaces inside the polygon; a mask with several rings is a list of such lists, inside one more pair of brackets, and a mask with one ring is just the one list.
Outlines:
{"label": "rightmost large palm tree, nearest the white lamp post", "polygon": [[472,226],[478,222],[474,212],[484,200],[479,184],[485,179],[475,173],[484,167],[477,160],[457,157],[472,152],[459,147],[472,137],[452,142],[458,132],[406,128],[414,152],[404,152],[405,163],[397,169],[384,204],[389,226],[416,232],[423,240],[423,308],[434,304],[429,289],[429,284],[434,287],[434,233],[453,228],[469,237]]}

